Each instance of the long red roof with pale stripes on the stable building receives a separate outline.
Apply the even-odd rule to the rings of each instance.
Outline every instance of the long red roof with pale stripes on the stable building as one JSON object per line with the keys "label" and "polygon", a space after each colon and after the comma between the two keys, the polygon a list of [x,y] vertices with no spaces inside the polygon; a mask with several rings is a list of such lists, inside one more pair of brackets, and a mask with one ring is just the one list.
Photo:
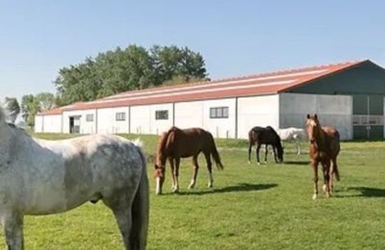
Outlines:
{"label": "long red roof with pale stripes on the stable building", "polygon": [[92,102],[80,102],[58,109],[38,113],[39,115],[60,114],[62,111],[79,109],[102,109],[118,106],[141,104],[159,104],[170,102],[186,102],[202,99],[219,99],[226,97],[246,97],[284,92],[318,78],[330,76],[366,61],[343,62],[339,64],[321,65],[276,71],[267,74],[255,74],[238,78],[227,78],[216,81],[188,83],[183,85],[149,88],[123,92]]}

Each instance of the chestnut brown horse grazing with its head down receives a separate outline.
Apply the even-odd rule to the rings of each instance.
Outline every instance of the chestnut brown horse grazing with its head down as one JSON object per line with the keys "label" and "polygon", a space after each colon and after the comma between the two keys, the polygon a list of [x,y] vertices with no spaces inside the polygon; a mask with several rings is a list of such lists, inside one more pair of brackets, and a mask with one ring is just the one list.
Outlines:
{"label": "chestnut brown horse grazing with its head down", "polygon": [[162,193],[163,182],[165,181],[166,160],[169,160],[172,169],[172,190],[179,192],[179,164],[181,158],[193,157],[193,177],[188,188],[194,188],[198,173],[198,155],[204,154],[209,170],[209,188],[213,186],[213,174],[211,172],[211,155],[216,162],[218,169],[223,169],[214,137],[210,132],[200,128],[180,130],[172,127],[162,134],[158,141],[157,156],[155,163],[156,193]]}

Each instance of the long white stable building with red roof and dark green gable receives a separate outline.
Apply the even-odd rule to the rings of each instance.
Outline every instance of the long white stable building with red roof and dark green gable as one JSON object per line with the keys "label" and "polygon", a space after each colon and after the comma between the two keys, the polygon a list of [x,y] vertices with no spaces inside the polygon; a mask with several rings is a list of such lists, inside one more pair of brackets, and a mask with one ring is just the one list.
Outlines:
{"label": "long white stable building with red roof and dark green gable", "polygon": [[307,113],[342,139],[384,138],[385,69],[370,60],[150,88],[38,113],[36,132],[160,134],[175,125],[247,138],[253,126],[304,127]]}

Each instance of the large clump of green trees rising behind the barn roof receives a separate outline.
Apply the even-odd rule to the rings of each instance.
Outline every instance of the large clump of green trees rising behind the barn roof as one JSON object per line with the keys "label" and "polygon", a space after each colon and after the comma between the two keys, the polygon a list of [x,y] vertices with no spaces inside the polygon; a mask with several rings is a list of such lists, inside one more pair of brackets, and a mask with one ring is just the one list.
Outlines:
{"label": "large clump of green trees rising behind the barn roof", "polygon": [[59,106],[86,102],[128,90],[159,86],[178,78],[204,80],[207,71],[204,58],[189,48],[128,46],[124,50],[99,53],[94,59],[59,70],[54,81],[55,103]]}

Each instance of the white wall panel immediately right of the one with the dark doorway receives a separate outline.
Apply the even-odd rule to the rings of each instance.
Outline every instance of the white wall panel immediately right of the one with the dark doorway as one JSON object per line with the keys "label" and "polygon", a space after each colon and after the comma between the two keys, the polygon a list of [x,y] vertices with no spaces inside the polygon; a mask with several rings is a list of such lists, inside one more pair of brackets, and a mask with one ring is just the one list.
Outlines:
{"label": "white wall panel immediately right of the one with the dark doorway", "polygon": [[[116,120],[116,113],[125,113],[125,120]],[[97,132],[99,134],[128,133],[129,108],[97,109]]]}

